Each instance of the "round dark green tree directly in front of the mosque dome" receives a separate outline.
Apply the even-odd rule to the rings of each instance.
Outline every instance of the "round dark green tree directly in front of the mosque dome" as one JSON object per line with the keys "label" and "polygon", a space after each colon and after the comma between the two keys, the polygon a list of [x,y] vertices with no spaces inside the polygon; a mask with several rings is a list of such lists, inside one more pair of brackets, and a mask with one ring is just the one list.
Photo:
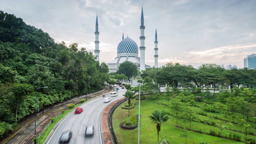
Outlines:
{"label": "round dark green tree directly in front of the mosque dome", "polygon": [[137,66],[130,61],[125,61],[120,64],[118,67],[118,74],[125,74],[128,77],[128,80],[137,74]]}

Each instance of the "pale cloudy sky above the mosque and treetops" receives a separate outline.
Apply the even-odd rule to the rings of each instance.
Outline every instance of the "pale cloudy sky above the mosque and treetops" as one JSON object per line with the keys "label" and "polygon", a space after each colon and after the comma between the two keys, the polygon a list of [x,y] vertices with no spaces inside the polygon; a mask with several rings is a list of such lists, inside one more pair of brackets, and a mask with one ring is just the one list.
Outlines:
{"label": "pale cloudy sky above the mosque and treetops", "polygon": [[0,0],[0,10],[42,29],[56,43],[77,43],[93,54],[98,15],[100,63],[116,58],[123,32],[140,47],[142,6],[145,64],[151,67],[156,29],[158,66],[243,68],[244,58],[256,54],[256,0]]}

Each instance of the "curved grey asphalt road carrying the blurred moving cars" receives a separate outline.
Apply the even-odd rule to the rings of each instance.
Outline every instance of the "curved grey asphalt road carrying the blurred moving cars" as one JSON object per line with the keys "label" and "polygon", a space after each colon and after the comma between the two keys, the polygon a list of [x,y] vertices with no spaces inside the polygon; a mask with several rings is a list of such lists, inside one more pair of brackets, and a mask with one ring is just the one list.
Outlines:
{"label": "curved grey asphalt road carrying the blurred moving cars", "polygon": [[[103,102],[103,97],[90,100],[80,106],[84,109],[80,114],[74,114],[73,110],[60,122],[46,144],[58,144],[62,132],[67,130],[71,130],[73,133],[70,144],[102,144],[100,113],[111,102],[124,98],[125,92],[126,89],[119,89],[116,97],[110,97],[110,94],[107,94],[104,98],[111,98],[108,103]],[[85,137],[87,125],[94,126],[93,137]]]}

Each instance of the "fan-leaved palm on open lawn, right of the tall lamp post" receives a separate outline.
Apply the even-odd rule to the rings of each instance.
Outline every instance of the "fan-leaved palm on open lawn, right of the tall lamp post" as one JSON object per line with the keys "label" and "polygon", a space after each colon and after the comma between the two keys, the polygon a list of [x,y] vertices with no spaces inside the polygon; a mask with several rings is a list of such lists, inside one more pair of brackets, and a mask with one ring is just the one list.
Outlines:
{"label": "fan-leaved palm on open lawn, right of the tall lamp post", "polygon": [[159,132],[161,130],[161,125],[166,123],[169,119],[168,112],[166,110],[154,110],[154,112],[151,113],[151,116],[148,116],[151,119],[151,122],[153,124],[156,124],[156,130],[157,130],[157,144],[159,144]]}

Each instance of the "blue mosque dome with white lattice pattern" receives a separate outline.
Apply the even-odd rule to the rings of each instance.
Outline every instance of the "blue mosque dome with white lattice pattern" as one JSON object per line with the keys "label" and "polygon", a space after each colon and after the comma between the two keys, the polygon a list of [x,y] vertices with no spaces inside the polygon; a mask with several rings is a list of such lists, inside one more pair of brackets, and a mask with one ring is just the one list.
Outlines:
{"label": "blue mosque dome with white lattice pattern", "polygon": [[138,45],[129,37],[124,38],[117,46],[118,54],[126,52],[138,54]]}

